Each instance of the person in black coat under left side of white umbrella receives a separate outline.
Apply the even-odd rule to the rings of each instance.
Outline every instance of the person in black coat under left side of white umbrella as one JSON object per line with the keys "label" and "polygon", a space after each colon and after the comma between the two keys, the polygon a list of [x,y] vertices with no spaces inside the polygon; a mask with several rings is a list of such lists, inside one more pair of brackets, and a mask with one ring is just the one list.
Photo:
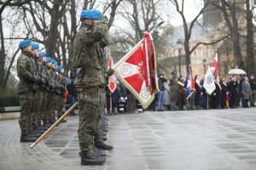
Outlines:
{"label": "person in black coat under left side of white umbrella", "polygon": [[228,88],[230,91],[230,108],[237,108],[237,100],[238,100],[238,82],[236,81],[236,77],[232,77],[230,82],[228,83]]}

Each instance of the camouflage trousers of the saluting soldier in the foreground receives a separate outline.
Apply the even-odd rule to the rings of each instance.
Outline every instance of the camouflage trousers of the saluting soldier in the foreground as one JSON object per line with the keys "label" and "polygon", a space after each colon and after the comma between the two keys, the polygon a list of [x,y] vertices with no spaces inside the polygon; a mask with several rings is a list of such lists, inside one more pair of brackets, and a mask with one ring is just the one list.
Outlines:
{"label": "camouflage trousers of the saluting soldier in the foreground", "polygon": [[105,94],[102,88],[80,88],[79,99],[79,146],[82,155],[87,155],[94,147],[95,138],[100,138],[102,111]]}

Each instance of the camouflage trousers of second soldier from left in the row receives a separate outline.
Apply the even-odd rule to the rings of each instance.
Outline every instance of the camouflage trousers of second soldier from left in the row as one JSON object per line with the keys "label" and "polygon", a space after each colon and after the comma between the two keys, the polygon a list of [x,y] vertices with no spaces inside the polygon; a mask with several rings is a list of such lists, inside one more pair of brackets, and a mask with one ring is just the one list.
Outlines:
{"label": "camouflage trousers of second soldier from left in the row", "polygon": [[32,126],[30,131],[41,125],[40,108],[42,104],[42,92],[38,89],[36,93],[32,94]]}

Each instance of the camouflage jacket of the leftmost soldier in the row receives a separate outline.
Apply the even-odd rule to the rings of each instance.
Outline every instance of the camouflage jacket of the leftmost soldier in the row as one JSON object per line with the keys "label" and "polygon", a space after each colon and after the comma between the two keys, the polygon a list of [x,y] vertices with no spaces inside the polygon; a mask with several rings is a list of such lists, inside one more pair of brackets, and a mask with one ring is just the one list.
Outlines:
{"label": "camouflage jacket of the leftmost soldier in the row", "polygon": [[20,78],[17,87],[18,94],[32,92],[33,82],[35,81],[33,73],[34,65],[32,54],[22,51],[17,60],[17,74]]}

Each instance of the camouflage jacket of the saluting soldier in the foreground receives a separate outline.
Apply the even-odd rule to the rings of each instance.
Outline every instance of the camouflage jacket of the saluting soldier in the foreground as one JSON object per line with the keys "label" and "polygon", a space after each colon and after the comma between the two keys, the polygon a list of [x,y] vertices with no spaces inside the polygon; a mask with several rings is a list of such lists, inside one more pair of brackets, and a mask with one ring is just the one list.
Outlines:
{"label": "camouflage jacket of the saluting soldier in the foreground", "polygon": [[[73,68],[82,67],[83,77],[77,88],[99,87],[105,84],[108,61],[103,49],[108,45],[108,19],[102,17],[98,27],[83,24],[73,42]],[[81,73],[80,73],[81,74]]]}

